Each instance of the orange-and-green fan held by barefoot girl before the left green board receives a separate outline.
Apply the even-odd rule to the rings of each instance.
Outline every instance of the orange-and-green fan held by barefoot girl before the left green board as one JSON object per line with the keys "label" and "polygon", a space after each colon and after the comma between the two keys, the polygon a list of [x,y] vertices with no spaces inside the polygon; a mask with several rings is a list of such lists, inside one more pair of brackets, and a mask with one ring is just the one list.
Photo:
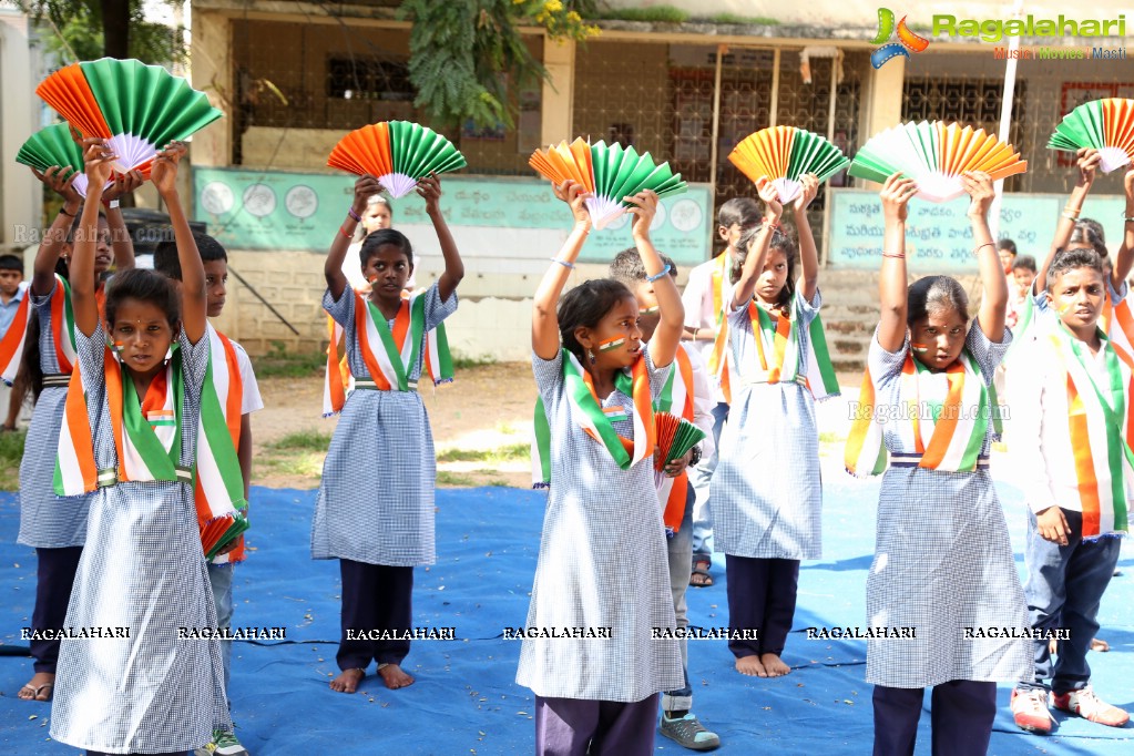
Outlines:
{"label": "orange-and-green fan held by barefoot girl before the left green board", "polygon": [[431,128],[409,121],[382,121],[339,139],[327,164],[357,176],[373,176],[397,199],[413,192],[418,179],[455,171],[467,163],[452,142]]}

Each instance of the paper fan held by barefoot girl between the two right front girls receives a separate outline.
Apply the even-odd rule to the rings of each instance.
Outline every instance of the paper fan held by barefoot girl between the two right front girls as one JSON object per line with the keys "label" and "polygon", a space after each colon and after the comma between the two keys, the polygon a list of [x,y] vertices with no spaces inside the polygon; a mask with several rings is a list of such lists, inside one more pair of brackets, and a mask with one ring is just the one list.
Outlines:
{"label": "paper fan held by barefoot girl between the two right front girls", "polygon": [[784,204],[799,196],[799,177],[804,173],[814,173],[820,181],[826,181],[850,162],[823,137],[794,126],[776,126],[750,134],[728,159],[753,182],[762,176],[771,179]]}

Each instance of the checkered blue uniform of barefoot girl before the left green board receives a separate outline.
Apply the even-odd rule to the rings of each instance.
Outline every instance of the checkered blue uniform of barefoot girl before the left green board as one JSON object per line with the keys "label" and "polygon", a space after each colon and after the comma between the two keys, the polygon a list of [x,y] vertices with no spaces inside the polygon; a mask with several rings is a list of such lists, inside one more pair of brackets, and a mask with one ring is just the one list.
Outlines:
{"label": "checkered blue uniform of barefoot girl before the left green board", "polygon": [[[422,296],[426,332],[457,311],[456,291],[441,301],[435,282]],[[345,288],[338,301],[328,291],[323,307],[345,330],[350,373],[366,377],[370,371],[355,330],[354,291]],[[406,375],[411,382],[421,377],[424,342],[423,333],[417,364]],[[355,389],[342,407],[323,462],[311,528],[312,559],[389,567],[432,564],[435,485],[433,432],[421,394]]]}

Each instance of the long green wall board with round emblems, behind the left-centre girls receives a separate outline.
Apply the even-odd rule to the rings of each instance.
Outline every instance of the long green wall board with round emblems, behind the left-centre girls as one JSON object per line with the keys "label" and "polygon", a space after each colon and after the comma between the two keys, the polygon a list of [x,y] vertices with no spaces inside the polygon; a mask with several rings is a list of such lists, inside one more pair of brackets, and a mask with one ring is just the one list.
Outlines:
{"label": "long green wall board with round emblems, behind the left-centre girls", "polygon": [[[195,219],[232,249],[328,248],[350,204],[355,177],[341,173],[289,173],[244,169],[196,168],[193,171]],[[567,206],[547,181],[482,176],[441,177],[441,211],[460,243],[460,227],[499,229],[494,257],[547,257],[570,229]],[[395,227],[428,226],[425,203],[416,194],[393,202]],[[712,198],[708,185],[691,185],[686,194],[662,201],[651,238],[678,263],[696,264],[710,256]],[[547,244],[530,244],[528,233],[545,231]],[[513,232],[513,233],[509,233]],[[557,236],[558,235],[558,236]],[[550,247],[549,247],[550,245]],[[632,246],[631,216],[592,231],[583,248],[587,261],[609,261]]]}

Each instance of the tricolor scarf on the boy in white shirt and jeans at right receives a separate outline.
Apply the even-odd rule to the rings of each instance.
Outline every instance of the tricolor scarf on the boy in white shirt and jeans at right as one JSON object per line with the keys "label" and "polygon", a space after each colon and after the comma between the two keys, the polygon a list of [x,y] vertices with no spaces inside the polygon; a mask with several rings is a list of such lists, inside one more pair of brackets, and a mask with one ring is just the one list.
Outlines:
{"label": "tricolor scarf on the boy in white shirt and jeans at right", "polygon": [[1048,338],[1067,384],[1067,426],[1075,453],[1083,510],[1083,537],[1125,533],[1127,491],[1134,483],[1134,362],[1131,352],[1099,330],[1107,384],[1094,382],[1084,365],[1083,342],[1060,323]]}

